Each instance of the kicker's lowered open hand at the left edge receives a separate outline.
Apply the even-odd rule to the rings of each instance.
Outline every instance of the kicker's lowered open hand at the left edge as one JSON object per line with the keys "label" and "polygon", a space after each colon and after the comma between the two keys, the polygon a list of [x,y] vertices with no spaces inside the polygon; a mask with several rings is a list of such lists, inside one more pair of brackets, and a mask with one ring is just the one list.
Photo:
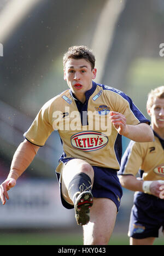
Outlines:
{"label": "kicker's lowered open hand at the left edge", "polygon": [[6,199],[9,200],[9,195],[7,193],[10,188],[15,187],[16,180],[13,178],[7,178],[0,186],[0,198],[2,204],[5,205]]}

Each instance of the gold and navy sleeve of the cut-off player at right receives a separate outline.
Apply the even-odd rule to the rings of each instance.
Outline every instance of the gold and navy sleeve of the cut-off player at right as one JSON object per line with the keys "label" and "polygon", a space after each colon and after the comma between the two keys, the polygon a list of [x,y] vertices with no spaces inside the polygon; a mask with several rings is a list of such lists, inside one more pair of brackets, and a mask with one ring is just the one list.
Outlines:
{"label": "gold and navy sleeve of the cut-off player at right", "polygon": [[121,166],[118,175],[136,176],[142,166],[143,156],[140,144],[131,141],[121,159]]}

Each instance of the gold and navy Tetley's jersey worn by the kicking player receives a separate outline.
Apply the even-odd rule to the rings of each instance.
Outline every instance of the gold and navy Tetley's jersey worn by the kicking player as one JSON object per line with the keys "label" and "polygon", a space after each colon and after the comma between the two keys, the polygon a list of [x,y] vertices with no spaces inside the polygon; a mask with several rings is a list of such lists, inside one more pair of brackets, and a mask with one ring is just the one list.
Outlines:
{"label": "gold and navy Tetley's jersey worn by the kicking player", "polygon": [[[63,145],[60,161],[68,158],[86,160],[92,166],[118,170],[122,156],[121,136],[109,121],[111,110],[125,115],[127,124],[150,121],[123,92],[92,82],[84,104],[68,89],[44,104],[25,138],[44,146],[51,132],[57,130]],[[54,142],[55,143],[55,142]]]}

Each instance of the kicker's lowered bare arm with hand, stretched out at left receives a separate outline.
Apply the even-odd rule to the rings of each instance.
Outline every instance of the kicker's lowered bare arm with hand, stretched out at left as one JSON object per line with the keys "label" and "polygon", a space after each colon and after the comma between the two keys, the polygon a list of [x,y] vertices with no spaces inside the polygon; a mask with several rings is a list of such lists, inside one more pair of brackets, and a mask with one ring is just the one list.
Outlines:
{"label": "kicker's lowered bare arm with hand, stretched out at left", "polygon": [[3,205],[9,199],[7,191],[15,187],[17,179],[31,164],[39,150],[39,146],[28,142],[26,139],[16,149],[11,162],[10,172],[7,179],[0,185],[0,197]]}

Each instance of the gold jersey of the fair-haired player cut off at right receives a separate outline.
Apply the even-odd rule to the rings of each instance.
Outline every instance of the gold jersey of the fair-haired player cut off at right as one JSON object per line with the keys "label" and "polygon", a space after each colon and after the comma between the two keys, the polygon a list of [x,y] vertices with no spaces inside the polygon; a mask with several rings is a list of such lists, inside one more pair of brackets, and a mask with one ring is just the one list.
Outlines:
{"label": "gold jersey of the fair-haired player cut off at right", "polygon": [[131,141],[121,160],[119,175],[139,172],[144,181],[164,180],[164,140],[154,132],[153,142]]}

